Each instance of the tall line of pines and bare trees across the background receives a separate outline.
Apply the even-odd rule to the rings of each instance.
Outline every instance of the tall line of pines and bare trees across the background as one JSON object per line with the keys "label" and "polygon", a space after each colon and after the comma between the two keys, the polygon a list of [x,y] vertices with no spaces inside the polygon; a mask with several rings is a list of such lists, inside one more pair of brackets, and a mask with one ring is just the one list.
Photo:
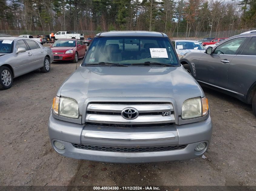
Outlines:
{"label": "tall line of pines and bare trees across the background", "polygon": [[0,30],[149,30],[190,33],[256,28],[256,0],[0,0]]}

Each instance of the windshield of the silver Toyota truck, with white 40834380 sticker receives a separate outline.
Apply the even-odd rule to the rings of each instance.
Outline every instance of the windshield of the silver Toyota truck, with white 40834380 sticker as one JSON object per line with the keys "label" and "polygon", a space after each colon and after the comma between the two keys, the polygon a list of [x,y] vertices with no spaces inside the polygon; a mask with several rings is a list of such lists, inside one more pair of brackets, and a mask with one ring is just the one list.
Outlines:
{"label": "windshield of the silver Toyota truck, with white 40834380 sticker", "polygon": [[179,66],[168,37],[95,37],[83,65],[100,62]]}

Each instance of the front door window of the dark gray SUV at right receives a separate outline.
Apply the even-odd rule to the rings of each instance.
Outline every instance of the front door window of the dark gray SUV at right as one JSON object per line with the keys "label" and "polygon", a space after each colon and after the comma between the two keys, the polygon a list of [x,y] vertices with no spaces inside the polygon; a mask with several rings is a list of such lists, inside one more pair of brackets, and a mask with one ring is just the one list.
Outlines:
{"label": "front door window of the dark gray SUV at right", "polygon": [[216,47],[216,49],[214,50],[214,54],[235,55],[236,51],[238,50],[238,48],[241,46],[245,39],[246,37],[241,37],[224,42]]}

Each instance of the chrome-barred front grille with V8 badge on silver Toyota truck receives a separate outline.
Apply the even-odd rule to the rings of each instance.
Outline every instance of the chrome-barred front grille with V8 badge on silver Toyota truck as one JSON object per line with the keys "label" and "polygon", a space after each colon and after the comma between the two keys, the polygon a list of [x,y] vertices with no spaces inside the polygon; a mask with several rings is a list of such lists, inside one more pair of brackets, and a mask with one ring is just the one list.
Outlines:
{"label": "chrome-barred front grille with V8 badge on silver Toyota truck", "polygon": [[[125,108],[138,110],[138,117],[125,119],[121,112]],[[168,115],[163,113],[168,112]],[[86,112],[86,123],[119,124],[120,125],[148,125],[175,123],[174,109],[168,102],[91,102]]]}

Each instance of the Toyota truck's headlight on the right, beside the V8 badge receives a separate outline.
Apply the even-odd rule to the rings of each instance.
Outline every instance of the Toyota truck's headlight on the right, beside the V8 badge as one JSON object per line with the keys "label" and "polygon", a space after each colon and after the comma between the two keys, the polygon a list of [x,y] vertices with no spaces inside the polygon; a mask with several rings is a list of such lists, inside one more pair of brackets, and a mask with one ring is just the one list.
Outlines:
{"label": "Toyota truck's headlight on the right, beside the V8 badge", "polygon": [[181,108],[181,118],[191,119],[204,116],[208,113],[208,99],[196,97],[185,100]]}

